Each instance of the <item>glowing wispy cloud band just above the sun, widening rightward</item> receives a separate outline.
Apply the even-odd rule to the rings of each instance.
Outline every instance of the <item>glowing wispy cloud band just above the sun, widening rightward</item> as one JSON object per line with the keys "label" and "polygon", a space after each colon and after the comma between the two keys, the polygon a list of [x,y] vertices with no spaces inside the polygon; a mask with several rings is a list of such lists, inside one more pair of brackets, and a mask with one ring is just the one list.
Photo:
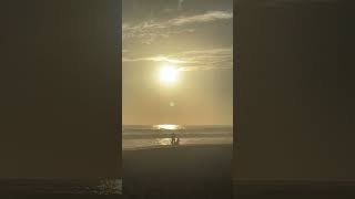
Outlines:
{"label": "glowing wispy cloud band just above the sun, widening rightward", "polygon": [[180,71],[220,70],[233,67],[233,49],[185,51],[146,57],[123,57],[123,62],[169,62],[179,64]]}

